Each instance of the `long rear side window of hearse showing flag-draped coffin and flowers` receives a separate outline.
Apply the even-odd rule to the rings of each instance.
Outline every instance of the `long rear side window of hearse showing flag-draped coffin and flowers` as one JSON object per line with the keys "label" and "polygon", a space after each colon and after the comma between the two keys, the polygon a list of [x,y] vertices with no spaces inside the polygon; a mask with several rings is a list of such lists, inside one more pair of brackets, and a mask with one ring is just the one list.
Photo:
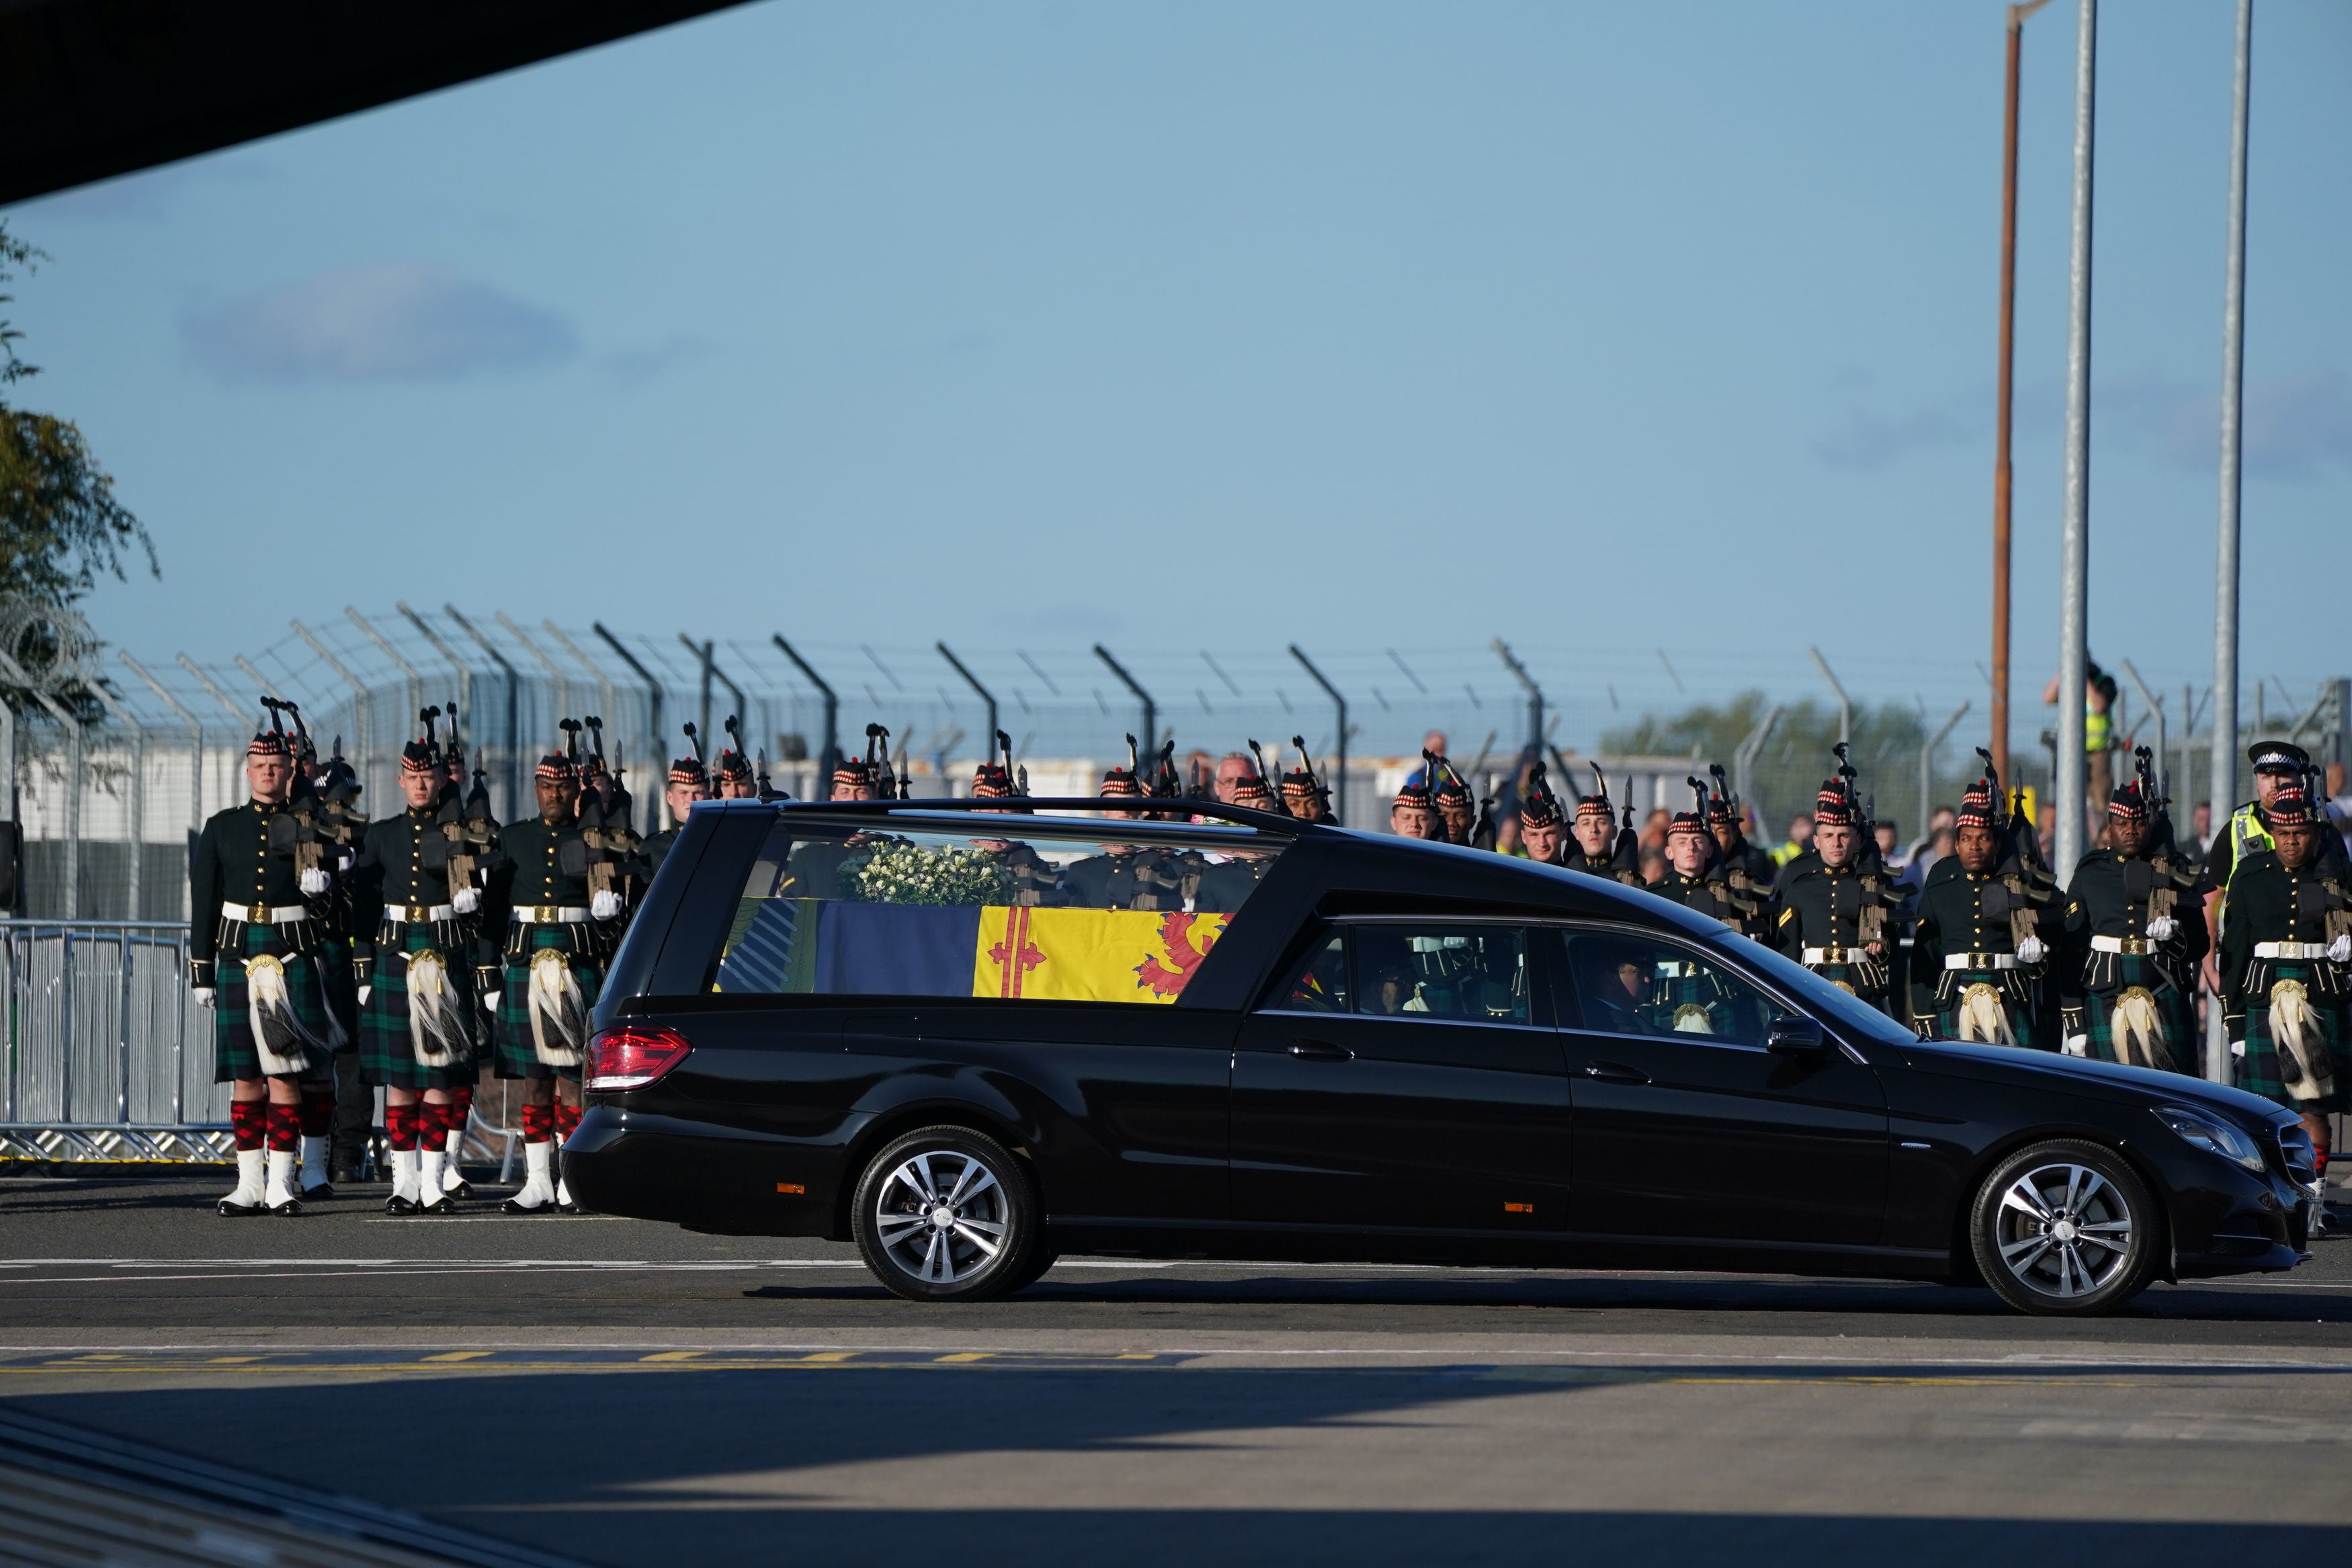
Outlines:
{"label": "long rear side window of hearse showing flag-draped coffin and flowers", "polygon": [[779,811],[713,990],[1169,1004],[1279,853],[1247,827],[924,818]]}

